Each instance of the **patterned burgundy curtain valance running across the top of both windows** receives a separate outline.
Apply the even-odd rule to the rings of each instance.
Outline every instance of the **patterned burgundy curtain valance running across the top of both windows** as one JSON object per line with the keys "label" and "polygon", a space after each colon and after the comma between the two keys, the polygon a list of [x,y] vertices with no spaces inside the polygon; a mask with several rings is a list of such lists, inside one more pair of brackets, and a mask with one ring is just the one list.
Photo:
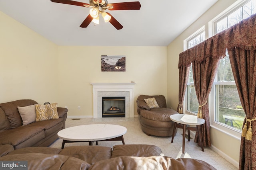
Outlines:
{"label": "patterned burgundy curtain valance running across the top of both windows", "polygon": [[194,61],[201,63],[207,57],[222,59],[226,49],[235,47],[256,49],[256,14],[180,53],[178,68],[189,67]]}

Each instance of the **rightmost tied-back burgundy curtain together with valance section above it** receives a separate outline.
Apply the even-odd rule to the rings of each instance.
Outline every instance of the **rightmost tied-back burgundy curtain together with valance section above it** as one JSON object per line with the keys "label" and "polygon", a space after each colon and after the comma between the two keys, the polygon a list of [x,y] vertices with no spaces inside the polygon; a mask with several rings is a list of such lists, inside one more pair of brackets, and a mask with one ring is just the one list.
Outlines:
{"label": "rightmost tied-back burgundy curtain together with valance section above it", "polygon": [[245,112],[240,145],[240,170],[256,169],[256,14],[225,33],[228,55]]}

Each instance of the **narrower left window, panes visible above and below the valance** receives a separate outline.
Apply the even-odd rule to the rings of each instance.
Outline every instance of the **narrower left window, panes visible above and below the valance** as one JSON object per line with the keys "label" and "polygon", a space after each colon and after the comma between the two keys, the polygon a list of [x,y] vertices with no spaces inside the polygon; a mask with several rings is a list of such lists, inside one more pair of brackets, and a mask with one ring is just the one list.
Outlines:
{"label": "narrower left window, panes visible above and below the valance", "polygon": [[[186,41],[186,49],[190,49],[194,47],[195,45],[203,42],[205,40],[205,31],[204,27],[196,31],[192,36],[190,36]],[[186,50],[185,49],[185,50]],[[187,100],[184,102],[186,107],[186,110],[192,113],[197,113],[198,111],[198,100],[196,97],[196,90],[194,86],[194,80],[193,80],[193,73],[192,73],[192,66],[190,66],[189,71],[189,78],[188,78],[188,86],[187,86]]]}

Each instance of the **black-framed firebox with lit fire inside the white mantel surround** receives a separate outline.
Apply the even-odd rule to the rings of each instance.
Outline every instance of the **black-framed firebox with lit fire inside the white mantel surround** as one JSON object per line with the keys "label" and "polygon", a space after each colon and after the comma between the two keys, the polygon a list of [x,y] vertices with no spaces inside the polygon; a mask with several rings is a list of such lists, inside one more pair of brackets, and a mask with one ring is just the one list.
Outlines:
{"label": "black-framed firebox with lit fire inside the white mantel surround", "polygon": [[125,117],[125,97],[102,97],[102,117]]}

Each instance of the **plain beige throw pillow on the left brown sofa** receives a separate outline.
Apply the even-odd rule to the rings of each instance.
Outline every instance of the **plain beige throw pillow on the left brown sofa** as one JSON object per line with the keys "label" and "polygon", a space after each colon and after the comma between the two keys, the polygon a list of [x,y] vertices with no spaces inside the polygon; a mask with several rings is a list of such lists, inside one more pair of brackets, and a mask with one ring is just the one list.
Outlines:
{"label": "plain beige throw pillow on the left brown sofa", "polygon": [[20,117],[22,118],[22,124],[28,125],[36,121],[36,105],[18,106],[18,111],[20,113]]}

